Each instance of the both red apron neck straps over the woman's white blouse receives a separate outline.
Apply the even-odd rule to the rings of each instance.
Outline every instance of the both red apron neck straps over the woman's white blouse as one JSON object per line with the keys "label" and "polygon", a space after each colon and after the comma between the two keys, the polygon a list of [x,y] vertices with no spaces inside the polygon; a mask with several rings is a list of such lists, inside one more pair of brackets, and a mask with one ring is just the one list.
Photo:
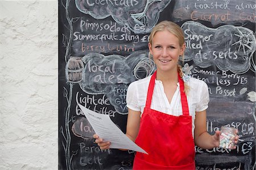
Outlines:
{"label": "both red apron neck straps over the woman's white blouse", "polygon": [[[178,73],[178,78],[180,83],[180,97],[181,97],[181,106],[182,106],[183,115],[189,115],[187,96],[184,92],[184,81],[181,79],[179,73]],[[150,108],[151,106],[153,91],[155,87],[155,79],[156,79],[156,71],[154,74],[152,74],[152,77],[150,79],[150,84],[148,85],[147,100],[146,100],[146,107],[148,108]]]}

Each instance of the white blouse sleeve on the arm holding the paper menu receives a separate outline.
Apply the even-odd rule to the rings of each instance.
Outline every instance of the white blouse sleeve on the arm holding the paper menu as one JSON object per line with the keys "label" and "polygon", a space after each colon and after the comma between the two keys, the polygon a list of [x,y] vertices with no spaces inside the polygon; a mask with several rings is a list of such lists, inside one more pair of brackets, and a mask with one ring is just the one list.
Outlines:
{"label": "white blouse sleeve on the arm holding the paper menu", "polygon": [[134,111],[141,111],[138,105],[138,89],[135,82],[132,82],[127,89],[126,93],[126,106]]}

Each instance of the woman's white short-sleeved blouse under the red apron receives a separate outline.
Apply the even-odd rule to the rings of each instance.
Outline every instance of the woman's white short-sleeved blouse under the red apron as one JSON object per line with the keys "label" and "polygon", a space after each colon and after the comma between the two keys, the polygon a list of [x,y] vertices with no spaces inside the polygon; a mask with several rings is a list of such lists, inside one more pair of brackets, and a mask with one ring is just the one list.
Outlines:
{"label": "woman's white short-sleeved blouse under the red apron", "polygon": [[[127,107],[131,110],[141,111],[143,113],[146,105],[147,89],[151,76],[132,82],[126,94]],[[209,92],[208,85],[196,78],[190,77],[187,82],[189,86],[189,93],[187,95],[189,115],[192,116],[192,134],[195,129],[195,112],[204,111],[208,108]],[[177,83],[177,89],[169,103],[162,81],[155,80],[155,87],[152,96],[151,109],[160,111],[162,113],[179,116],[182,114],[181,98],[180,98],[180,84]],[[142,115],[142,114],[141,114]]]}

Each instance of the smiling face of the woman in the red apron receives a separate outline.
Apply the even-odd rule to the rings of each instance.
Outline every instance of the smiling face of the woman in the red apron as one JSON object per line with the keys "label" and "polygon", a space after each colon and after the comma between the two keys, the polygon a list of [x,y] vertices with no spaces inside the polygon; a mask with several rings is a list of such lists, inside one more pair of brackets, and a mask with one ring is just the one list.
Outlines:
{"label": "smiling face of the woman in the red apron", "polygon": [[181,45],[179,39],[170,31],[163,30],[155,33],[148,48],[153,56],[156,67],[160,72],[176,72],[179,56],[183,55],[185,44]]}

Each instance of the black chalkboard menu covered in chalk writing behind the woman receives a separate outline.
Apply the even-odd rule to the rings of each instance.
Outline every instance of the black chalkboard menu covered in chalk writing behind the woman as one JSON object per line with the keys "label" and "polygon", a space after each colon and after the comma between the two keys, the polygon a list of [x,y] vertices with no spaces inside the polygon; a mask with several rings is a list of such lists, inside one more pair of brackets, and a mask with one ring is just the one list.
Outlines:
{"label": "black chalkboard menu covered in chalk writing behind the woman", "polygon": [[76,101],[125,132],[127,87],[155,71],[148,35],[162,20],[184,31],[183,71],[208,84],[208,132],[239,130],[237,150],[196,146],[196,169],[255,169],[255,9],[235,0],[60,0],[59,169],[132,169],[135,152],[100,150]]}

